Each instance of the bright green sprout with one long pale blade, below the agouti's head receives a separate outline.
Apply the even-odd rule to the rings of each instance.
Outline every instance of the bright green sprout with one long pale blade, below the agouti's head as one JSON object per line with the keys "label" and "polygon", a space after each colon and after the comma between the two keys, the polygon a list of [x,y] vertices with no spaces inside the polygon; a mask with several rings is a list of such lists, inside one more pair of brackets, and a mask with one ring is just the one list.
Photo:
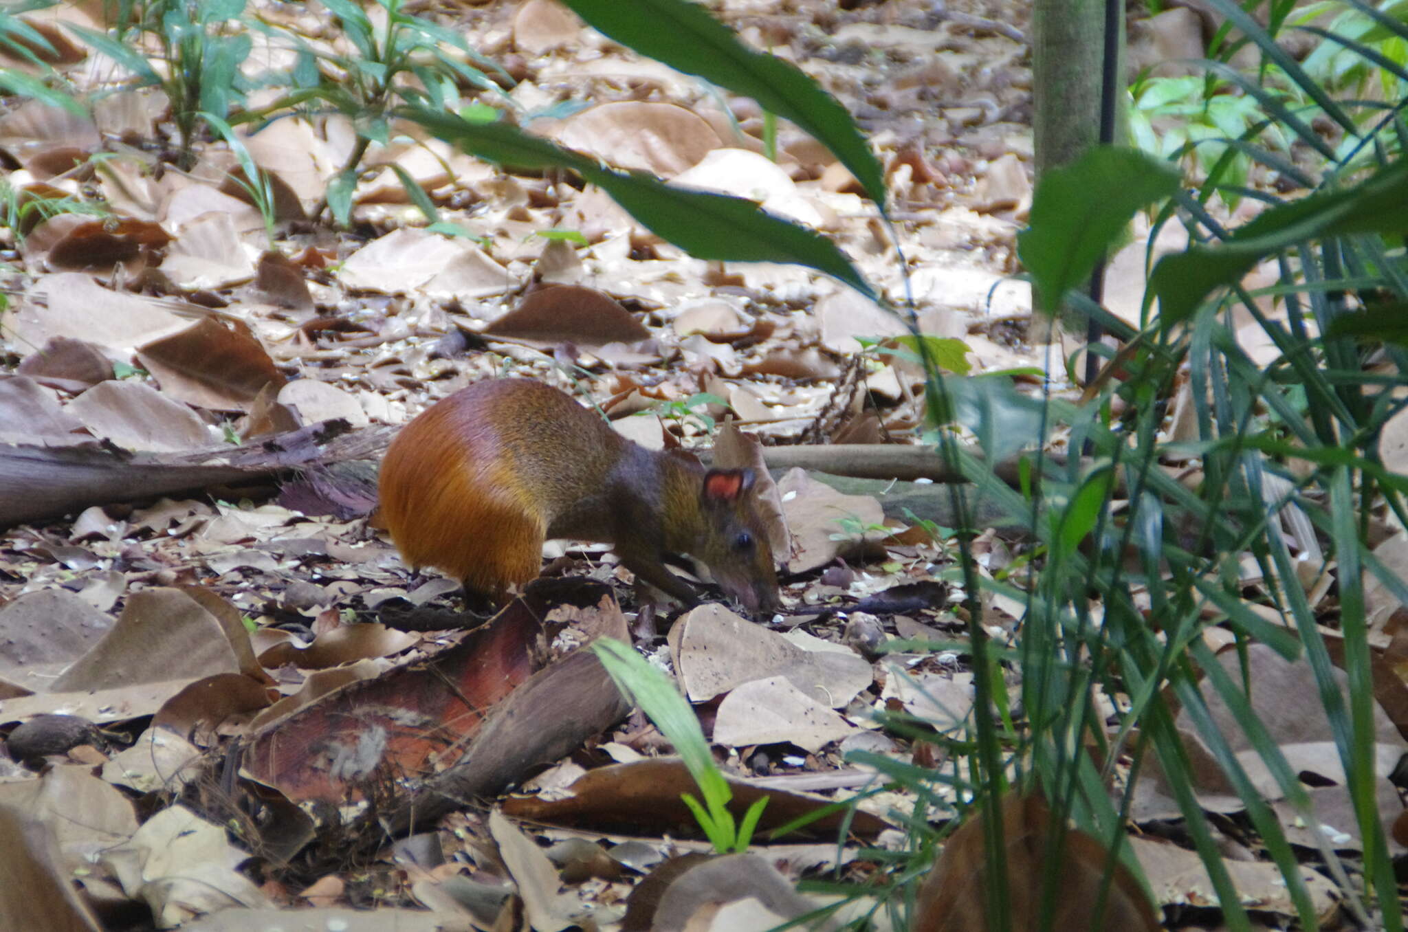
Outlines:
{"label": "bright green sprout with one long pale blade, below the agouti's head", "polygon": [[767,797],[748,807],[743,818],[735,824],[734,814],[728,810],[734,793],[714,762],[694,710],[680,695],[674,683],[650,666],[631,645],[601,638],[591,645],[591,649],[621,691],[641,707],[660,733],[670,739],[690,776],[694,777],[704,801],[700,802],[690,793],[681,794],[680,798],[698,819],[714,850],[719,855],[748,850],[758,819],[767,805]]}

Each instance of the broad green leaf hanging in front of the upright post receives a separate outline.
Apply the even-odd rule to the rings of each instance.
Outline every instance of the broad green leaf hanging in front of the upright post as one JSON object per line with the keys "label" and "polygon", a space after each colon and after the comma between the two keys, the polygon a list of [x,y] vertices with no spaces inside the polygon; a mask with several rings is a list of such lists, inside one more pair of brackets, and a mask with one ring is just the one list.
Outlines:
{"label": "broad green leaf hanging in front of the upright post", "polygon": [[1062,296],[1095,267],[1140,207],[1178,189],[1178,170],[1136,149],[1097,146],[1046,172],[1032,200],[1031,225],[1017,237],[1039,307],[1055,314]]}

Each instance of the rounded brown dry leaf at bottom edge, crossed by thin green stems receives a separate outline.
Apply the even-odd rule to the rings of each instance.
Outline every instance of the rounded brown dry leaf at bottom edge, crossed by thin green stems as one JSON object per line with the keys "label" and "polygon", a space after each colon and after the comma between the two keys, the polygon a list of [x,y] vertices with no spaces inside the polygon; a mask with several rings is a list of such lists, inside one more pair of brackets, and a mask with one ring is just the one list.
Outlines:
{"label": "rounded brown dry leaf at bottom edge, crossed by thin green stems", "polygon": [[[1159,932],[1153,905],[1133,874],[1121,864],[1110,866],[1105,846],[1081,832],[1066,828],[1060,839],[1039,794],[1002,797],[1002,843],[1007,863],[1007,904],[1014,932],[1043,928],[1043,884],[1050,883],[1052,929],[1108,929],[1110,932]],[[1053,849],[1052,843],[1060,846]],[[988,928],[988,902],[983,817],[973,811],[943,845],[934,870],[919,890],[914,932],[981,932]],[[1101,922],[1095,904],[1111,867],[1110,894]]]}

